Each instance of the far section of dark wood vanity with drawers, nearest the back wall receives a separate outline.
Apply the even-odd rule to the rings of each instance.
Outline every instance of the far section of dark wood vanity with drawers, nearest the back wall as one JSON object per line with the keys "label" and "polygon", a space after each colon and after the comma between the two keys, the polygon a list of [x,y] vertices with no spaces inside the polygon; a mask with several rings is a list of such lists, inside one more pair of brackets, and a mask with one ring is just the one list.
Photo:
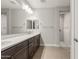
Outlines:
{"label": "far section of dark wood vanity with drawers, nearest the back wall", "polygon": [[40,35],[32,37],[32,39],[29,40],[29,59],[33,57],[35,52],[40,46]]}

